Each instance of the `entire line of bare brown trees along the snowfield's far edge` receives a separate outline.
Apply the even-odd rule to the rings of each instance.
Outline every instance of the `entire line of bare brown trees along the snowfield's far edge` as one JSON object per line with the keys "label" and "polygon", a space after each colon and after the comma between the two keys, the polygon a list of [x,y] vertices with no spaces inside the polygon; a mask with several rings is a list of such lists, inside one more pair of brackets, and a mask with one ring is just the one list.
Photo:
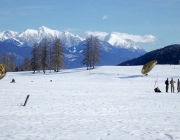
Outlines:
{"label": "entire line of bare brown trees along the snowfield's far edge", "polygon": [[[100,62],[101,46],[98,37],[89,36],[84,46],[82,64],[87,67],[87,70],[94,69],[95,64]],[[59,72],[64,66],[64,47],[60,39],[51,42],[45,38],[41,43],[35,43],[31,56],[31,59],[25,57],[21,66],[17,66],[15,54],[5,53],[0,55],[0,63],[6,65],[8,72],[32,70],[35,73],[42,70],[44,74],[47,70]]]}

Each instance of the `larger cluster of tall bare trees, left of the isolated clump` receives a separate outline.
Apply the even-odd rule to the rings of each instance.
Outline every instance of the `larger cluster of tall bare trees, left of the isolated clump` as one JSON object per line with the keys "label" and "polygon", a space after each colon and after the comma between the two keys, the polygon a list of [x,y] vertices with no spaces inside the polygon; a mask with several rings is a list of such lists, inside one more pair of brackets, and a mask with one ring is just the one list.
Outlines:
{"label": "larger cluster of tall bare trees, left of the isolated clump", "polygon": [[52,46],[47,39],[44,39],[40,44],[35,43],[31,54],[30,65],[34,73],[40,70],[46,73],[47,69],[50,72],[52,69],[59,72],[64,65],[64,48],[60,39],[56,39]]}

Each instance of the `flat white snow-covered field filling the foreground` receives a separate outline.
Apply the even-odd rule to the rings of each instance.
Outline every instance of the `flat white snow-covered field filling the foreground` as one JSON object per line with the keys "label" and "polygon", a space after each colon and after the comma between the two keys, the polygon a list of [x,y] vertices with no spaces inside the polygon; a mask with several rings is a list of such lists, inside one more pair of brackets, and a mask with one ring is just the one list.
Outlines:
{"label": "flat white snow-covered field filling the foreground", "polygon": [[[156,65],[145,77],[141,68],[7,73],[0,140],[180,140],[180,66]],[[162,93],[153,90],[157,75]],[[176,81],[175,93],[165,92],[166,78]]]}

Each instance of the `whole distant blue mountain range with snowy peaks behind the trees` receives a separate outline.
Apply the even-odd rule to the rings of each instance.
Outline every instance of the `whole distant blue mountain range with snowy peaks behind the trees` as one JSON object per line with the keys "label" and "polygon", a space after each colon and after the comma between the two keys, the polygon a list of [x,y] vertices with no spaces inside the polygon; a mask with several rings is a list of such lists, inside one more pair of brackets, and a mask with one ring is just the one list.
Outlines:
{"label": "whole distant blue mountain range with snowy peaks behind the trees", "polygon": [[[40,43],[44,38],[49,41],[60,38],[65,48],[65,68],[82,67],[84,43],[90,34],[94,35],[93,32],[86,32],[84,37],[80,37],[70,32],[52,30],[45,26],[38,30],[27,29],[20,33],[10,30],[3,31],[0,32],[0,54],[13,53],[20,63],[25,56],[31,58],[31,51],[35,42]],[[98,65],[117,65],[146,53],[136,42],[123,39],[116,32],[99,33],[95,36],[98,36],[102,46],[101,62]]]}

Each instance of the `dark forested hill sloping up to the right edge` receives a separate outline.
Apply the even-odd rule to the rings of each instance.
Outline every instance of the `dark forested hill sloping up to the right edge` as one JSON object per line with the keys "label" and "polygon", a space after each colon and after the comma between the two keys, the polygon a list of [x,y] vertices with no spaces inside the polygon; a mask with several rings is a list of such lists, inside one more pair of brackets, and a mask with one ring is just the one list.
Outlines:
{"label": "dark forested hill sloping up to the right edge", "polygon": [[180,64],[180,44],[173,44],[148,52],[138,58],[127,60],[119,66],[144,65],[151,60],[157,60],[158,64]]}

